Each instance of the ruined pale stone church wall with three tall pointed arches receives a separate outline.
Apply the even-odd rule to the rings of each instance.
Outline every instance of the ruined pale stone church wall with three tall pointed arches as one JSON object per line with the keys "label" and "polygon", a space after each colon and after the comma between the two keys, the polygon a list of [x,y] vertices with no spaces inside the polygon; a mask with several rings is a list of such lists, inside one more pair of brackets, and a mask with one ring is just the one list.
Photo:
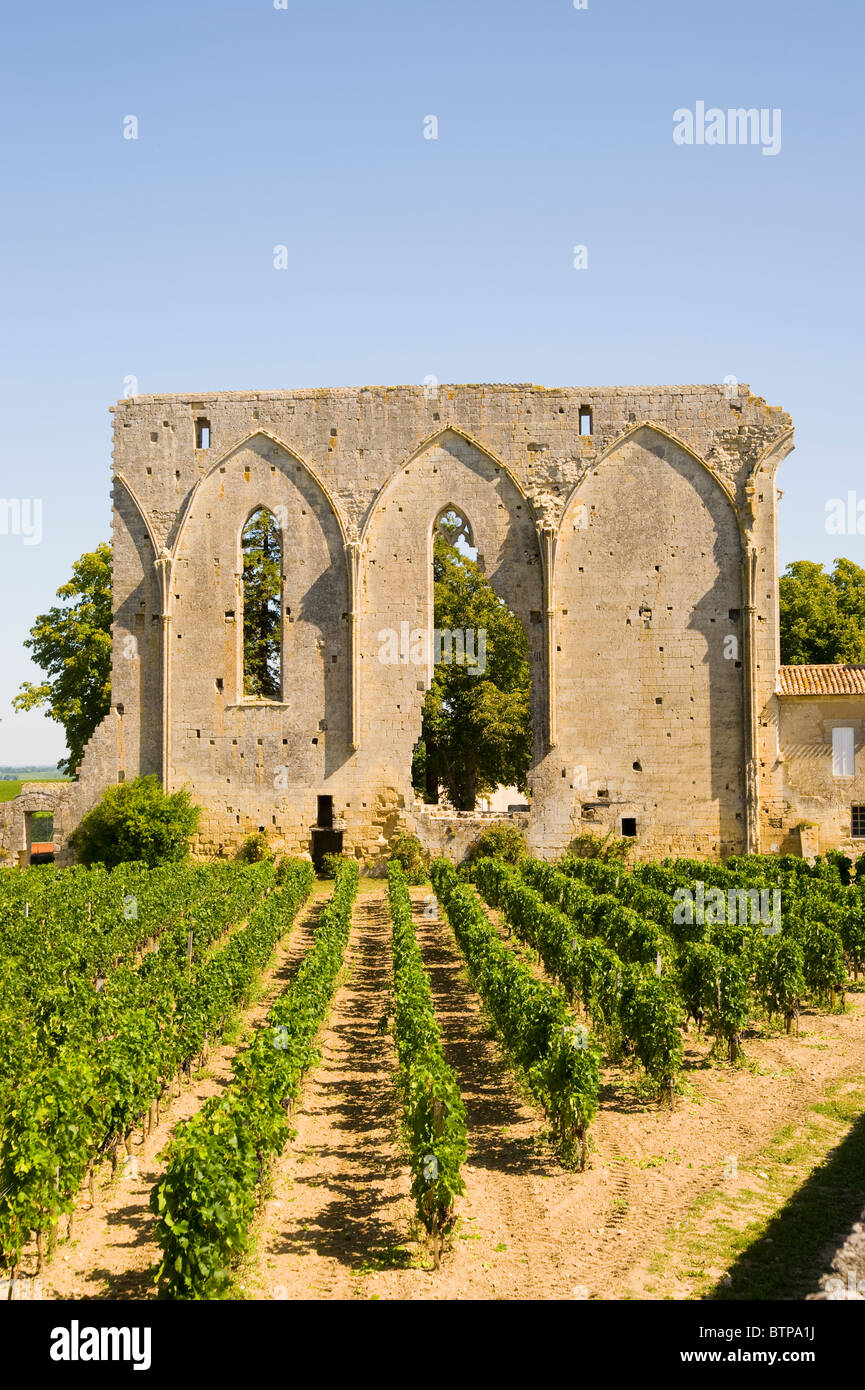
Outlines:
{"label": "ruined pale stone church wall with three tall pointed arches", "polygon": [[[747,386],[118,402],[113,712],[78,795],[143,771],[189,785],[202,853],[259,827],[305,851],[331,795],[346,847],[382,849],[414,824],[428,670],[381,662],[380,634],[431,623],[432,527],[455,505],[528,637],[534,848],[623,815],[640,852],[741,848],[745,663],[722,635],[745,645],[748,543],[773,574],[775,485],[757,502],[748,484],[790,436]],[[241,689],[241,530],[260,506],[284,538],[278,705]],[[757,691],[775,688],[775,614],[765,578]]]}

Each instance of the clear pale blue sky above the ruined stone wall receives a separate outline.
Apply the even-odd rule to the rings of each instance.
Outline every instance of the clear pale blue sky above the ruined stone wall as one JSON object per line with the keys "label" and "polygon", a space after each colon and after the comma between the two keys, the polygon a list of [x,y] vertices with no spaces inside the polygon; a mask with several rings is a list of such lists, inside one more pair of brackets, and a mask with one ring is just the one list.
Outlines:
{"label": "clear pale blue sky above the ruined stone wall", "polygon": [[[854,0],[7,6],[0,495],[43,499],[43,539],[0,535],[0,763],[64,751],[10,701],[33,616],[108,535],[128,375],[736,375],[797,425],[782,563],[865,563],[825,531],[865,496],[864,29]],[[700,100],[779,107],[780,153],[676,146]]]}

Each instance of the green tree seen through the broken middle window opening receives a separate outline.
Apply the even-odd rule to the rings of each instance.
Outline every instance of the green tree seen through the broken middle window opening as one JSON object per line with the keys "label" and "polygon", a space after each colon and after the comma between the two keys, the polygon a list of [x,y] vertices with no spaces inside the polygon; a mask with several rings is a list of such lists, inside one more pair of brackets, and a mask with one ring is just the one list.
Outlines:
{"label": "green tree seen through the broken middle window opening", "polygon": [[442,535],[435,538],[432,574],[437,630],[470,634],[466,649],[483,660],[474,669],[455,659],[437,662],[424,701],[414,784],[435,799],[441,781],[458,810],[474,810],[485,791],[502,785],[526,790],[531,762],[528,642],[523,624],[474,560]]}

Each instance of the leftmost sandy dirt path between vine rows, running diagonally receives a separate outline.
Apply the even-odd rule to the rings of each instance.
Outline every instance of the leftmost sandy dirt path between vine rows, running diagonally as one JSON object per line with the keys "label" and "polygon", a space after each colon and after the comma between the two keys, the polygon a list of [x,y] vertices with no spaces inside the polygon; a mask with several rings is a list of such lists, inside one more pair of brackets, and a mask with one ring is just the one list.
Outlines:
{"label": "leftmost sandy dirt path between vine rows, running diagonally", "polygon": [[[231,1081],[234,1059],[282,992],[306,952],[320,906],[331,885],[318,885],[316,895],[298,916],[288,937],[277,945],[274,959],[261,976],[256,1002],[243,1015],[241,1034],[214,1048],[192,1084],[161,1108],[160,1123],[142,1143],[132,1141],[132,1158],[121,1163],[114,1183],[107,1182],[110,1165],[103,1165],[90,1209],[86,1188],[75,1211],[72,1238],[61,1241],[42,1275],[45,1298],[153,1298],[152,1268],[160,1258],[153,1240],[150,1190],[163,1175],[159,1154],[174,1127],[196,1113],[211,1095]],[[175,1095],[174,1087],[171,1090]],[[61,1227],[63,1229],[63,1227]],[[35,1258],[31,1258],[35,1268]],[[25,1264],[25,1269],[28,1265]]]}

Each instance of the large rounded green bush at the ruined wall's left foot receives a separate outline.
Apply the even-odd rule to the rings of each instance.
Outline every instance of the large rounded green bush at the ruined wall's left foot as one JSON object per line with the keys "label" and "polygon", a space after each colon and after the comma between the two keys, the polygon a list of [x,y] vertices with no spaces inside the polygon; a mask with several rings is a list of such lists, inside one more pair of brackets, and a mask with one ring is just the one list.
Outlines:
{"label": "large rounded green bush at the ruined wall's left foot", "polygon": [[188,791],[165,795],[154,774],[136,777],[107,788],[70,835],[70,845],[83,865],[113,869],[140,860],[154,869],[186,859],[200,815]]}

